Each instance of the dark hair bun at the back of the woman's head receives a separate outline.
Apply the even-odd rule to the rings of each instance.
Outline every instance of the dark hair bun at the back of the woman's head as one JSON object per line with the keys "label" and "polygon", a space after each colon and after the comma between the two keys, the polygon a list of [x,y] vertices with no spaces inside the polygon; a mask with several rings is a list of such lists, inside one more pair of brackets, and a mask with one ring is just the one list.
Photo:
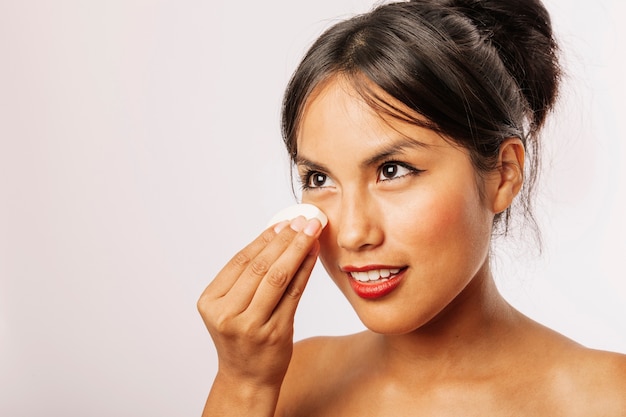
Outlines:
{"label": "dark hair bun at the back of the woman's head", "polygon": [[532,110],[532,129],[539,129],[556,102],[561,76],[558,46],[543,4],[539,0],[444,0],[442,3],[469,18],[496,48]]}

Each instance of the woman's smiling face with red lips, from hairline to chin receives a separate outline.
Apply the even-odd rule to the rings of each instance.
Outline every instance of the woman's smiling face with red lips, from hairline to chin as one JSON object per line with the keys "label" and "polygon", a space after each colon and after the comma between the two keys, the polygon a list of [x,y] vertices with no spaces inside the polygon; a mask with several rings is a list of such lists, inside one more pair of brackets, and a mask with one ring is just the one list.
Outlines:
{"label": "woman's smiling face with red lips, from hairline to chin", "polygon": [[493,213],[467,150],[377,114],[339,77],[297,140],[303,202],[329,219],[320,259],[368,328],[415,330],[488,274]]}

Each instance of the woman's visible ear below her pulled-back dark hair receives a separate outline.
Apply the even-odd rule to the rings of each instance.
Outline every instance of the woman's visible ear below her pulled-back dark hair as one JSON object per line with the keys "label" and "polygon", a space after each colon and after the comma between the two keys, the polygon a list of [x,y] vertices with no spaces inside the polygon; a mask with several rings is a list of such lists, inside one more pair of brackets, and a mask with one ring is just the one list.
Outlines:
{"label": "woman's visible ear below her pulled-back dark hair", "polygon": [[498,165],[493,173],[491,204],[494,213],[505,211],[524,183],[524,144],[519,138],[508,138],[500,145]]}

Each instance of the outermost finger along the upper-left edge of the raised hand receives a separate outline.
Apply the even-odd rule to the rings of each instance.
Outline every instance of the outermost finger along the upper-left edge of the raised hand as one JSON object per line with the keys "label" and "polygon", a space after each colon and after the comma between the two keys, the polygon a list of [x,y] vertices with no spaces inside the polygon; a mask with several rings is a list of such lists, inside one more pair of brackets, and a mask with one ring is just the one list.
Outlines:
{"label": "outermost finger along the upper-left edge of the raised hand", "polygon": [[276,235],[288,225],[288,222],[281,222],[272,228],[266,229],[255,240],[248,244],[233,256],[228,263],[215,276],[211,283],[206,287],[201,297],[210,294],[211,298],[223,297],[239,276],[248,267],[250,262],[261,253],[263,249],[276,237]]}

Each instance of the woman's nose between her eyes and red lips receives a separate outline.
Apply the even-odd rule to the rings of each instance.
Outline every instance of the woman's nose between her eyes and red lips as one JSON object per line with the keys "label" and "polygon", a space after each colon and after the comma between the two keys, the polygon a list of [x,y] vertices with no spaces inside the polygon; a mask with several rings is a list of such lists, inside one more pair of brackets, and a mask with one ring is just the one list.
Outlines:
{"label": "woman's nose between her eyes and red lips", "polygon": [[344,194],[341,199],[337,245],[349,251],[363,251],[379,246],[384,239],[382,218],[376,205],[366,195]]}

